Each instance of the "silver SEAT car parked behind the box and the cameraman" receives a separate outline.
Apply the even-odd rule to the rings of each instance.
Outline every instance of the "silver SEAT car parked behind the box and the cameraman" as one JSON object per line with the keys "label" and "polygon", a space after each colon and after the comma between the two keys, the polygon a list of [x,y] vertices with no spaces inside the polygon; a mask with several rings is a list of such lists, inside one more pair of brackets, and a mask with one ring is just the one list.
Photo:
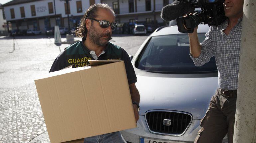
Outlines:
{"label": "silver SEAT car parked behind the box and the cameraman", "polygon": [[[208,30],[208,25],[199,25],[200,42]],[[194,142],[219,85],[215,59],[196,67],[189,52],[188,34],[179,33],[177,25],[156,29],[141,45],[132,60],[140,118],[137,128],[121,131],[125,142]]]}

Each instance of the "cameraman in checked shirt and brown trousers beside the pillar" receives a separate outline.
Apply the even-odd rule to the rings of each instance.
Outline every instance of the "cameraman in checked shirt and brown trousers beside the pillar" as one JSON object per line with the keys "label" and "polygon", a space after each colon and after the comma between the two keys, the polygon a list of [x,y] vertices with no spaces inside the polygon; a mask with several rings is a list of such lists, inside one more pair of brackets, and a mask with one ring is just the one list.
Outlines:
{"label": "cameraman in checked shirt and brown trousers beside the pillar", "polygon": [[220,86],[201,119],[195,143],[221,143],[226,134],[228,143],[233,143],[243,0],[225,0],[223,5],[228,18],[219,26],[211,26],[202,43],[197,27],[189,34],[190,56],[196,66],[215,56]]}

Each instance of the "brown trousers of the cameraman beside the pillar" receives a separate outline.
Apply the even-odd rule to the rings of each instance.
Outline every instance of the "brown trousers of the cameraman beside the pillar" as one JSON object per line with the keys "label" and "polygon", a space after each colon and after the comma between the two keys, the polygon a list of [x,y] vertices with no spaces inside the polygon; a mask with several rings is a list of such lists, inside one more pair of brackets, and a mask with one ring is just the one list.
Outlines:
{"label": "brown trousers of the cameraman beside the pillar", "polygon": [[201,119],[201,129],[194,143],[222,143],[226,134],[228,143],[233,143],[235,111],[236,95],[228,97],[221,93],[221,89],[217,89]]}

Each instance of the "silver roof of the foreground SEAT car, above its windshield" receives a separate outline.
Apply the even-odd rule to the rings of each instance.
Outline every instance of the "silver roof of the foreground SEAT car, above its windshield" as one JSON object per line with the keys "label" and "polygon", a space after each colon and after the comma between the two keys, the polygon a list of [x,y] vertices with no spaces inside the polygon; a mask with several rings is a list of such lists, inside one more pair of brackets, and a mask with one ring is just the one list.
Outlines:
{"label": "silver roof of the foreground SEAT car, above its windshield", "polygon": [[[210,27],[208,25],[199,24],[197,33],[206,33],[208,32]],[[162,26],[155,30],[151,36],[160,36],[160,35],[171,35],[171,34],[184,34],[180,33],[177,25],[174,26]]]}

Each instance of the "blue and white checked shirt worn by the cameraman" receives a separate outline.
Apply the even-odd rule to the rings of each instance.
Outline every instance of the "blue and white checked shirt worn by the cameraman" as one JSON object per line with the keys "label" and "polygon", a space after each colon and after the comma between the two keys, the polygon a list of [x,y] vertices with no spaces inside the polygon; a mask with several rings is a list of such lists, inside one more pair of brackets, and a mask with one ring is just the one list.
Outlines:
{"label": "blue and white checked shirt worn by the cameraman", "polygon": [[196,66],[202,66],[215,56],[220,88],[237,90],[242,18],[238,20],[228,35],[223,32],[227,25],[226,20],[219,26],[211,26],[206,33],[206,38],[200,44],[202,51],[199,57],[194,58],[191,53],[190,57]]}

